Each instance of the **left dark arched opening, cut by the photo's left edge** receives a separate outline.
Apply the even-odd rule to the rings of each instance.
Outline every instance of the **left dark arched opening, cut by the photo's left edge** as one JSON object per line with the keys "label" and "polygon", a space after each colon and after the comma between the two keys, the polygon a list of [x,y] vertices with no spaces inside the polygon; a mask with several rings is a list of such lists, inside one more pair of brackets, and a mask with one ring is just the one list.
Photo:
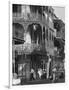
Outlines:
{"label": "left dark arched opening, cut by the photo's left edge", "polygon": [[15,44],[21,44],[24,40],[24,27],[19,23],[13,23],[13,39]]}

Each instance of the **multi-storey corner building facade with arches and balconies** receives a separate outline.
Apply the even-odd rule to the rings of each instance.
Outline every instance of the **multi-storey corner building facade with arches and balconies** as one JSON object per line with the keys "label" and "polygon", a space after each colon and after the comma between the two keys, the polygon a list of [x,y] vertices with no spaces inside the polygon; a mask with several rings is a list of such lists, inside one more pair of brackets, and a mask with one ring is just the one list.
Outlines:
{"label": "multi-storey corner building facade with arches and balconies", "polygon": [[47,56],[54,56],[54,10],[21,4],[13,4],[12,10],[13,73],[29,80],[31,68],[47,70]]}

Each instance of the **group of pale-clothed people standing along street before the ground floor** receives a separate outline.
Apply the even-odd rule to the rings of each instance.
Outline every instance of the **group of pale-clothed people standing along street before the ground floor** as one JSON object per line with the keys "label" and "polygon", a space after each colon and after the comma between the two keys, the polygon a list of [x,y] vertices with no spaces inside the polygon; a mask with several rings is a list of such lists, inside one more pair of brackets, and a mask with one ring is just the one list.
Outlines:
{"label": "group of pale-clothed people standing along street before the ground floor", "polygon": [[[52,75],[50,75],[48,79],[55,81],[56,79],[55,72],[56,72],[56,68],[52,70]],[[35,70],[32,68],[30,72],[30,80],[36,80],[36,79],[41,79],[41,80],[47,79],[47,72],[43,71],[41,68],[39,68],[37,72],[35,72]]]}

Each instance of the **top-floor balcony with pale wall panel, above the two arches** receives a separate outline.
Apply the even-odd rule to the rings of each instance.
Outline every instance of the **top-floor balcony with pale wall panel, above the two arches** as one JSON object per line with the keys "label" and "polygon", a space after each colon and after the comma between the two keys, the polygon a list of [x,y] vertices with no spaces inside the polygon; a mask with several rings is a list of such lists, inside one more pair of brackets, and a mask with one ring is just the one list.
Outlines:
{"label": "top-floor balcony with pale wall panel, above the two arches", "polygon": [[13,19],[16,20],[30,20],[30,21],[41,21],[42,15],[39,13],[38,9],[34,11],[35,6],[30,5],[17,5],[13,4]]}

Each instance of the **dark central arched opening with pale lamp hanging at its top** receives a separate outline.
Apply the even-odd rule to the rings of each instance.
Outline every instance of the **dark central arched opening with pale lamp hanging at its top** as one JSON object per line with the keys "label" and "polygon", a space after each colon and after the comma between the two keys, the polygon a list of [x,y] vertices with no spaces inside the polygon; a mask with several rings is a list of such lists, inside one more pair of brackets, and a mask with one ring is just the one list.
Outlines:
{"label": "dark central arched opening with pale lamp hanging at its top", "polygon": [[32,23],[28,26],[27,32],[31,36],[31,42],[41,44],[42,42],[42,27],[40,24]]}

